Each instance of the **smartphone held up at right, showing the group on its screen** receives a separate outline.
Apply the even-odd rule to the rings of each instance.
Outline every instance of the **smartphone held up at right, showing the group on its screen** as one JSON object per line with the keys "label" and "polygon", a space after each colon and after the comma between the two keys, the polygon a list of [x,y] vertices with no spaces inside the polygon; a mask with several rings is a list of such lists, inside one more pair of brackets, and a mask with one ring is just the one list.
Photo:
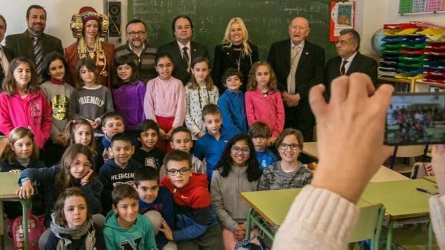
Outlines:
{"label": "smartphone held up at right, showing the group on its screen", "polygon": [[386,112],[385,144],[445,143],[445,93],[394,94]]}

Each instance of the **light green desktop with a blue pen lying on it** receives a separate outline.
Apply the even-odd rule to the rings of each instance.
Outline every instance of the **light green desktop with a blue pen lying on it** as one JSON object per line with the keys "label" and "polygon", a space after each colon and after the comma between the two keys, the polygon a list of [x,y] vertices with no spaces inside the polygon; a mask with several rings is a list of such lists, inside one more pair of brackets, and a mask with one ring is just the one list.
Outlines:
{"label": "light green desktop with a blue pen lying on it", "polygon": [[386,214],[394,219],[428,216],[431,195],[416,187],[437,191],[434,183],[425,179],[374,182],[368,184],[361,198],[370,204],[382,203]]}

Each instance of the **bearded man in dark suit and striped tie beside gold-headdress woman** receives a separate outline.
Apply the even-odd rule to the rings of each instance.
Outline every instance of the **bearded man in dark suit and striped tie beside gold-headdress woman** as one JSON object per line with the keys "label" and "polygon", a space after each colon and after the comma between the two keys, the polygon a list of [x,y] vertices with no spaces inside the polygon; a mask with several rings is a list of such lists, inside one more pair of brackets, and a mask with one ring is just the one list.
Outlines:
{"label": "bearded man in dark suit and striped tie beside gold-headdress woman", "polygon": [[43,33],[47,22],[47,12],[39,5],[31,5],[26,11],[28,29],[21,34],[6,37],[8,58],[26,57],[36,64],[40,73],[41,62],[50,52],[57,51],[63,55],[62,41]]}

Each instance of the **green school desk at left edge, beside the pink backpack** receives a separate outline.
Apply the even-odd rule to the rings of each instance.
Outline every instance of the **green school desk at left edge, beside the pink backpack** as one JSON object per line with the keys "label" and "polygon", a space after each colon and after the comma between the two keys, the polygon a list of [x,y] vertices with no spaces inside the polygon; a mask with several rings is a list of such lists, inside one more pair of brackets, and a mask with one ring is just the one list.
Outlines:
{"label": "green school desk at left edge, beside the pink backpack", "polygon": [[[17,189],[19,188],[18,184],[19,174],[17,173],[0,173],[0,249],[5,249],[5,240],[4,240],[4,228],[3,228],[3,202],[2,201],[13,201],[20,202],[22,204],[22,214],[23,214],[23,228],[28,228],[28,200],[21,199],[16,194]],[[28,249],[28,230],[23,230],[24,237],[24,249]]]}

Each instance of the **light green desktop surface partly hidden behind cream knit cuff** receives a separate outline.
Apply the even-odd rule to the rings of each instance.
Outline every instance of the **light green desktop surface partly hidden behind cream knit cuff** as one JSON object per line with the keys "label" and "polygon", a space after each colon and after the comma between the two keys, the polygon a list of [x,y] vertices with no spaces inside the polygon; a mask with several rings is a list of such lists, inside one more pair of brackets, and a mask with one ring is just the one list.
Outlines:
{"label": "light green desktop surface partly hidden behind cream knit cuff", "polygon": [[[301,188],[242,192],[241,197],[270,225],[278,228],[286,218],[290,206],[300,191]],[[357,205],[365,207],[370,204],[359,200]]]}

